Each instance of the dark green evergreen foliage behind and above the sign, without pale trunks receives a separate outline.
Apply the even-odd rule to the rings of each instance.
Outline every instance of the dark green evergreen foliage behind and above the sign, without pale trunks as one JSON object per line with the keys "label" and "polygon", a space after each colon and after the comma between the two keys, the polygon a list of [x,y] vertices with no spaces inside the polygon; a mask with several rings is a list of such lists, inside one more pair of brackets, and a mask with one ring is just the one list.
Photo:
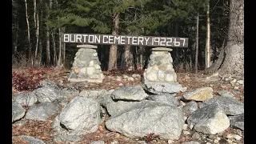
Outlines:
{"label": "dark green evergreen foliage behind and above the sign, without pale trunks", "polygon": [[[50,2],[52,2],[52,7],[50,10],[46,10],[45,3],[50,5]],[[190,40],[189,48],[187,50],[179,50],[179,55],[187,60],[189,60],[188,56],[190,56],[194,62],[196,16],[199,13],[199,51],[204,54],[206,0],[52,0],[50,2],[46,0],[37,1],[37,13],[40,17],[39,21],[42,22],[39,32],[42,47],[46,45],[44,36],[44,26],[46,25],[50,26],[51,32],[56,32],[55,41],[58,45],[59,35],[57,32],[59,28],[62,30],[65,28],[67,33],[111,34],[113,14],[119,12],[118,31],[122,35],[173,37],[175,25],[178,25],[178,37],[186,37]],[[26,51],[28,49],[27,42],[22,41],[26,38],[24,5],[24,1],[12,1],[12,34],[13,40],[18,40],[18,43],[15,44],[18,51]],[[215,57],[217,57],[223,38],[226,36],[229,18],[228,7],[229,2],[225,0],[210,1],[211,45],[216,52]],[[31,42],[35,43],[34,5],[32,1],[28,1],[28,9]],[[49,14],[48,18],[46,14]],[[16,36],[17,30],[19,31],[18,36]],[[53,38],[50,38],[50,47],[52,46]],[[66,46],[66,52],[70,52],[69,49],[73,49],[72,46],[74,45]],[[107,46],[99,47],[106,48]],[[42,51],[44,54],[45,49],[43,48]],[[107,50],[99,51],[99,53],[103,52],[108,54]],[[72,54],[66,55],[72,57]],[[42,58],[42,61],[45,61],[45,58]],[[203,65],[203,62],[203,58],[199,59],[199,63]]]}

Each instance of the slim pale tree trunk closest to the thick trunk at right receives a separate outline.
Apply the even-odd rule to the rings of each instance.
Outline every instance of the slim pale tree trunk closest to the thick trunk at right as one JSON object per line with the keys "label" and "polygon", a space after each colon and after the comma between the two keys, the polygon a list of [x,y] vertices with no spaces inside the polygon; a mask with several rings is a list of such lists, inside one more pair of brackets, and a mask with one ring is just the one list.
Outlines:
{"label": "slim pale tree trunk closest to the thick trunk at right", "polygon": [[210,0],[207,0],[206,17],[206,68],[208,68],[210,67]]}

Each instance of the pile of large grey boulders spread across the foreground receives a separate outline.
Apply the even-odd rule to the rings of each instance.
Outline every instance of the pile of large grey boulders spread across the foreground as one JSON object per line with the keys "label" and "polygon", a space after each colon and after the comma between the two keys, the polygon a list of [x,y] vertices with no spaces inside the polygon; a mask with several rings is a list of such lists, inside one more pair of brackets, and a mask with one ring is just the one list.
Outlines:
{"label": "pile of large grey boulders spread across the foreground", "polygon": [[[72,87],[61,90],[53,82],[42,83],[49,85],[14,95],[12,122],[46,121],[59,113],[51,124],[54,142],[80,142],[82,134],[98,130],[106,116],[105,126],[110,131],[128,138],[154,133],[168,143],[180,138],[181,134],[191,135],[194,142],[218,143],[222,139],[216,135],[227,128],[244,129],[243,103],[230,96],[213,97],[212,90],[207,87],[177,97],[176,93],[148,93],[141,85],[79,92]],[[70,98],[72,100],[68,101]],[[29,108],[25,110],[22,106]],[[208,137],[212,138],[208,140]],[[44,143],[30,136],[20,138]],[[233,135],[232,138],[231,142],[238,141],[241,136]]]}

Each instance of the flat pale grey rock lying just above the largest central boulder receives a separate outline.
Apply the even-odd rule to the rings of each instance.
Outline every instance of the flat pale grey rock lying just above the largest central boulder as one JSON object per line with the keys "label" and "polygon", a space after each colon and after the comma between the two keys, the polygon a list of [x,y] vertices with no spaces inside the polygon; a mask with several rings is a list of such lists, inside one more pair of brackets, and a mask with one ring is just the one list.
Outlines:
{"label": "flat pale grey rock lying just above the largest central boulder", "polygon": [[123,86],[111,94],[111,98],[114,100],[142,101],[147,97],[148,94],[145,93],[141,85]]}

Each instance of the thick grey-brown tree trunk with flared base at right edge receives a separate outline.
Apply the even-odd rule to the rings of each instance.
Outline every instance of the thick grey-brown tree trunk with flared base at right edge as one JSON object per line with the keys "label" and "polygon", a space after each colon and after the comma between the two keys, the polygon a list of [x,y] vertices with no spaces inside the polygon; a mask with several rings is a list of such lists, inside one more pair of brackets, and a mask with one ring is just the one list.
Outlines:
{"label": "thick grey-brown tree trunk with flared base at right edge", "polygon": [[230,25],[226,46],[218,60],[204,73],[244,74],[244,0],[230,1]]}

